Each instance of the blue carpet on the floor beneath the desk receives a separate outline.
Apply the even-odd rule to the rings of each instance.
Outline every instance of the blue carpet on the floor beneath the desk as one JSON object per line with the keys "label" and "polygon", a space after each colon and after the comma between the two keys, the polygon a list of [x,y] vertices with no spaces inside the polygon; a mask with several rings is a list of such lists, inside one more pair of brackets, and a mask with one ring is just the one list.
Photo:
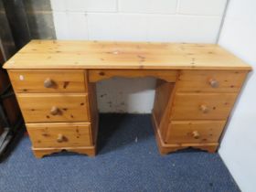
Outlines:
{"label": "blue carpet on the floor beneath the desk", "polygon": [[96,157],[37,160],[25,136],[0,164],[0,191],[240,191],[218,154],[159,155],[150,115],[101,114],[98,140]]}

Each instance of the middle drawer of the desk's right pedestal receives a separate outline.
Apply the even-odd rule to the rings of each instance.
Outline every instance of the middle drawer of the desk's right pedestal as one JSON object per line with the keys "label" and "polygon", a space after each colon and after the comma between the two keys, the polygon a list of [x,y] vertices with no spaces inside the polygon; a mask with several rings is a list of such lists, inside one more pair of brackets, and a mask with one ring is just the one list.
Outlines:
{"label": "middle drawer of the desk's right pedestal", "polygon": [[226,120],[236,93],[176,93],[171,120]]}

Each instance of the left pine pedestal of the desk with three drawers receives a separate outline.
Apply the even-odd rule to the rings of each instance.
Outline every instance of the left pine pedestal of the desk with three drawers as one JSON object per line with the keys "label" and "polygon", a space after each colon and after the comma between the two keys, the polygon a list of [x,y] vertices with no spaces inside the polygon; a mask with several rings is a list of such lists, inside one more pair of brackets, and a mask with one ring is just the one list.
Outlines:
{"label": "left pine pedestal of the desk with three drawers", "polygon": [[96,154],[95,84],[84,69],[9,69],[37,158],[63,150]]}

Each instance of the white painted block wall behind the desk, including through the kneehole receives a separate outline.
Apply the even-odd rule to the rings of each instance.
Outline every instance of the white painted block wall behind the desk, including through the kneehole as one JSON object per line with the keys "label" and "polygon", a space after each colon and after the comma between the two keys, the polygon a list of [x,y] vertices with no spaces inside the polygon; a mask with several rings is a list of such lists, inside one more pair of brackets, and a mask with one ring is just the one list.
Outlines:
{"label": "white painted block wall behind the desk, including through the kneehole", "polygon": [[[215,43],[226,0],[51,0],[51,5],[59,39]],[[132,82],[99,83],[100,111],[151,112],[155,80]]]}

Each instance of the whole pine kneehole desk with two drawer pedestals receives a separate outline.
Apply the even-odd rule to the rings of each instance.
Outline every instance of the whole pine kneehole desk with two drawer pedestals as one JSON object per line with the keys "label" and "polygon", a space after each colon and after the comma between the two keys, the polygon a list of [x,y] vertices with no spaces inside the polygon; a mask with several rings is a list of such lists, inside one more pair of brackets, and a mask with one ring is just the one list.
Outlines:
{"label": "whole pine kneehole desk with two drawer pedestals", "polygon": [[[4,66],[37,157],[96,154],[95,83],[157,78],[153,123],[161,154],[215,152],[251,67],[217,45],[33,40]],[[133,85],[131,85],[133,86]]]}

